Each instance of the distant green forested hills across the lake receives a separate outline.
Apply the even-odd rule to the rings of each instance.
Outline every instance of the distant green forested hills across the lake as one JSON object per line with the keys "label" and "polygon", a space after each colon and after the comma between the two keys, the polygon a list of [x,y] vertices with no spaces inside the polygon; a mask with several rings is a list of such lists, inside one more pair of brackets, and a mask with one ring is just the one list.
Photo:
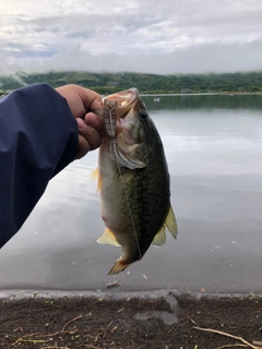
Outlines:
{"label": "distant green forested hills across the lake", "polygon": [[262,93],[262,71],[225,74],[156,75],[143,73],[48,72],[0,76],[0,94],[36,83],[53,87],[79,84],[102,95],[130,87],[141,94]]}

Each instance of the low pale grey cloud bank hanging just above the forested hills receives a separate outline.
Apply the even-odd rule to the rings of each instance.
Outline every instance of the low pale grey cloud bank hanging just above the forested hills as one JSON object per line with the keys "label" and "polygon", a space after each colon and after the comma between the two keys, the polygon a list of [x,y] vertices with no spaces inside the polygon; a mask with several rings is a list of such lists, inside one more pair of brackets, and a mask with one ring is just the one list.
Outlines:
{"label": "low pale grey cloud bank hanging just above the forested hills", "polygon": [[[243,56],[246,58],[245,60],[237,59],[237,57]],[[81,46],[78,46],[59,50],[51,57],[43,57],[39,52],[35,52],[33,58],[21,57],[16,59],[15,63],[16,70],[23,70],[25,72],[82,70],[95,72],[129,71],[177,74],[260,70],[261,56],[262,43],[257,41],[247,45],[201,44],[176,49],[165,55],[162,52],[141,53],[134,51],[128,56],[115,52],[91,55],[82,50]]]}

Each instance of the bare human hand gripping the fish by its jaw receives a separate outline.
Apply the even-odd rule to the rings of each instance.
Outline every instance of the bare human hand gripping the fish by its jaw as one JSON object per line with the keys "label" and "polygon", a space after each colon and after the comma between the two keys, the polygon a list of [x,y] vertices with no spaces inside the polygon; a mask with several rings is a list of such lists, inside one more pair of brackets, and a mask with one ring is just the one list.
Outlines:
{"label": "bare human hand gripping the fish by its jaw", "polygon": [[105,127],[97,116],[103,111],[102,97],[92,89],[78,85],[66,85],[56,88],[63,96],[74,116],[79,128],[79,151],[75,159],[96,149],[105,136]]}

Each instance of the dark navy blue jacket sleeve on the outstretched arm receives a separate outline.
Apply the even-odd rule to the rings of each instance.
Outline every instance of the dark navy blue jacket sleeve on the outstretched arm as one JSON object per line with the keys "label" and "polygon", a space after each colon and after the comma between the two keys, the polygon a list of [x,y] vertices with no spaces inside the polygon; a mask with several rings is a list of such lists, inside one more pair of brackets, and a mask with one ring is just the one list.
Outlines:
{"label": "dark navy blue jacket sleeve on the outstretched arm", "polygon": [[68,103],[49,85],[14,91],[0,103],[0,249],[73,160],[78,144]]}

